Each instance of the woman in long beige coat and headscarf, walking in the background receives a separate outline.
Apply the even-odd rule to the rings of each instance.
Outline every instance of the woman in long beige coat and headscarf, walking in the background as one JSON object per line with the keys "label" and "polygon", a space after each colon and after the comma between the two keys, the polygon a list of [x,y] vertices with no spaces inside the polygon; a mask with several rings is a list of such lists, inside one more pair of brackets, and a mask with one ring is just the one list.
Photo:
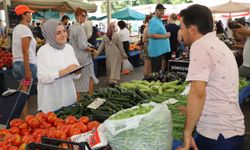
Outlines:
{"label": "woman in long beige coat and headscarf, walking in the background", "polygon": [[118,33],[116,33],[115,23],[108,25],[107,33],[104,35],[102,43],[98,49],[100,54],[105,49],[106,54],[106,70],[110,86],[115,86],[121,79],[121,67],[123,59],[127,59],[122,41]]}

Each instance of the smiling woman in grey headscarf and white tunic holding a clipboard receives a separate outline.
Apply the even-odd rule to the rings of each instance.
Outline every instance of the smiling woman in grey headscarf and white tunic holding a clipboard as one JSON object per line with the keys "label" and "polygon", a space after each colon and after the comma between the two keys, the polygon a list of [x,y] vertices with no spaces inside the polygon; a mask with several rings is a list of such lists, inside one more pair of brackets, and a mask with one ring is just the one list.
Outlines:
{"label": "smiling woman in grey headscarf and white tunic holding a clipboard", "polygon": [[42,32],[46,44],[37,53],[38,110],[56,111],[76,102],[73,78],[79,75],[58,77],[78,68],[79,63],[73,47],[66,44],[67,32],[59,21],[46,21]]}

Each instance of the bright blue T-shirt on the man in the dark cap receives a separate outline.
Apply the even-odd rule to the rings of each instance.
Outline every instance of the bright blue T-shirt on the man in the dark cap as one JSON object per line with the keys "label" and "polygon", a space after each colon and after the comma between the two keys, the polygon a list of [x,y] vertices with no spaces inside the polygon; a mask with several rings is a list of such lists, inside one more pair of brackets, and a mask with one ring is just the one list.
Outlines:
{"label": "bright blue T-shirt on the man in the dark cap", "polygon": [[[163,25],[162,20],[158,17],[154,16],[148,25],[148,33],[149,34],[166,34],[166,29]],[[169,39],[153,39],[149,38],[148,41],[148,54],[149,57],[157,57],[166,52],[170,52],[170,43]]]}

